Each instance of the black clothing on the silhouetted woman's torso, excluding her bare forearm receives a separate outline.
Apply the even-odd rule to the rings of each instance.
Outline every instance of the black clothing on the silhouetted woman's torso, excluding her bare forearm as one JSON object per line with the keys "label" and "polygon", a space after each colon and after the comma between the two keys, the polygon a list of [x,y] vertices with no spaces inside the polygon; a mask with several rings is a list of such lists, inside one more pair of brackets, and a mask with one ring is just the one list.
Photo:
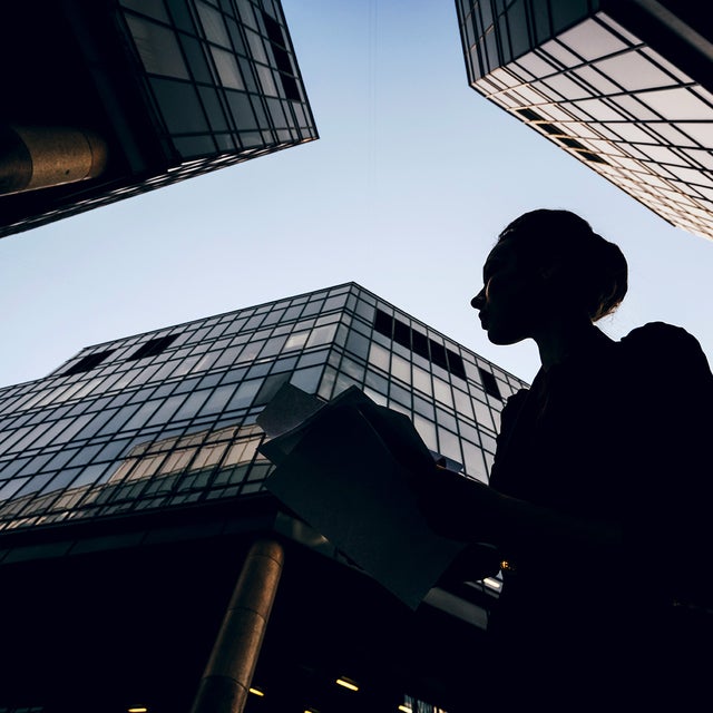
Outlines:
{"label": "black clothing on the silhouetted woman's torso, excluding her bare forearm", "polygon": [[634,661],[672,671],[673,647],[690,648],[674,609],[706,606],[711,592],[712,434],[706,358],[664,323],[621,342],[602,334],[508,400],[490,485],[611,521],[624,537],[611,548],[553,541],[502,553],[511,569],[490,628],[501,675],[533,683],[560,671],[582,690],[631,682]]}

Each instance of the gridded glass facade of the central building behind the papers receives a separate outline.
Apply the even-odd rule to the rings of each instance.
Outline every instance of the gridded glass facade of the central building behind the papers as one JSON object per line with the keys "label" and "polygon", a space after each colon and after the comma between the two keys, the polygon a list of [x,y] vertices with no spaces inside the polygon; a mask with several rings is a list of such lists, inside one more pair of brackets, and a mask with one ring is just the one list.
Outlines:
{"label": "gridded glass facade of the central building behind the papers", "polygon": [[0,531],[261,491],[255,418],[285,382],[354,384],[484,481],[524,385],[353,283],[90,346],[0,391]]}

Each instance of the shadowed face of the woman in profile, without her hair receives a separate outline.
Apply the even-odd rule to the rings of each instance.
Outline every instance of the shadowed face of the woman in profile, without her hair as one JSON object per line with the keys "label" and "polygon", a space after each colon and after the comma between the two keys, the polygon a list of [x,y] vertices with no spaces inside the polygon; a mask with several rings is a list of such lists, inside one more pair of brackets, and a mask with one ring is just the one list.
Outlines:
{"label": "shadowed face of the woman in profile, without her hair", "polygon": [[518,255],[512,240],[498,243],[482,268],[482,290],[470,301],[494,344],[533,336],[543,281]]}

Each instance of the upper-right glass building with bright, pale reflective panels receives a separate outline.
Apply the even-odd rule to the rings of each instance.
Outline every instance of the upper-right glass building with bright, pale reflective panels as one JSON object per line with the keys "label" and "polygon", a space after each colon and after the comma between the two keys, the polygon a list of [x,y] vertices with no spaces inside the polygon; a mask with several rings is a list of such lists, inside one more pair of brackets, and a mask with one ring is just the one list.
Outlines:
{"label": "upper-right glass building with bright, pale reflective panels", "polygon": [[672,225],[713,237],[711,67],[680,47],[695,20],[675,3],[635,3],[666,6],[655,18],[626,4],[457,0],[470,86]]}

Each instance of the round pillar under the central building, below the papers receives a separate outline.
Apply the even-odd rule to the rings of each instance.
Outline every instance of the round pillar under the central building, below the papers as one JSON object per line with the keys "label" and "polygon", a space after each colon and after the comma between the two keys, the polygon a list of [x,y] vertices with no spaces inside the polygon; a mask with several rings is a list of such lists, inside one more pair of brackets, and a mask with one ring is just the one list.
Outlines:
{"label": "round pillar under the central building, below the papers", "polygon": [[284,550],[257,540],[245,558],[192,713],[242,713],[282,574]]}

